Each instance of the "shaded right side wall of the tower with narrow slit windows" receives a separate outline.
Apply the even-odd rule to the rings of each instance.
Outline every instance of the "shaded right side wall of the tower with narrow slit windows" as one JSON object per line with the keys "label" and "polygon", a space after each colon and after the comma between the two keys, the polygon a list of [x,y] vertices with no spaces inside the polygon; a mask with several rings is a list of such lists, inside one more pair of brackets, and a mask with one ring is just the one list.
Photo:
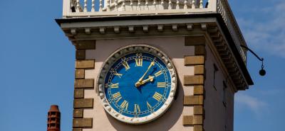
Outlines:
{"label": "shaded right side wall of the tower with narrow slit windows", "polygon": [[[229,83],[229,79],[224,75],[221,63],[217,57],[214,57],[212,50],[206,46],[207,58],[205,61],[206,79],[204,82],[204,130],[210,131],[232,131],[234,118],[234,90]],[[214,65],[217,65],[218,71],[215,77],[214,89]],[[226,106],[223,104],[223,81],[227,84],[226,89]]]}

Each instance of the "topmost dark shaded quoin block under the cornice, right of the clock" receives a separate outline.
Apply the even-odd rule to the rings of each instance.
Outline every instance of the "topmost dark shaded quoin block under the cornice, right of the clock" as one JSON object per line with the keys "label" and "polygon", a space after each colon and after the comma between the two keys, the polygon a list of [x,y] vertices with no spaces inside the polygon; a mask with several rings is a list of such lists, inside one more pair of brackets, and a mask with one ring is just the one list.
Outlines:
{"label": "topmost dark shaded quoin block under the cornice, right of the clock", "polygon": [[204,36],[186,36],[185,37],[185,46],[192,45],[205,45],[206,39]]}

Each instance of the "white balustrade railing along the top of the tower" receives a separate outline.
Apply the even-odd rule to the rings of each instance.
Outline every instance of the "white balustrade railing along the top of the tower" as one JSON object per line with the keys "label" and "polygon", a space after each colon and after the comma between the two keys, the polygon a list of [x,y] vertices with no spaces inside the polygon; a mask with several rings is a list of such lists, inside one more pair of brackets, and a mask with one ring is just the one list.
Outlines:
{"label": "white balustrade railing along the top of the tower", "polygon": [[220,13],[246,62],[246,45],[227,0],[63,0],[63,18]]}

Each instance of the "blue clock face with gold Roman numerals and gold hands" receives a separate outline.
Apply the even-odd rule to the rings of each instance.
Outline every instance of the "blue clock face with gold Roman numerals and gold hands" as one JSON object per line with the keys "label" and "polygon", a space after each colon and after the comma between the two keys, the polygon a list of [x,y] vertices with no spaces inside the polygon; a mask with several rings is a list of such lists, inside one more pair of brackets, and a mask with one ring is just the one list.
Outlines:
{"label": "blue clock face with gold Roman numerals and gold hands", "polygon": [[118,59],[105,76],[105,97],[118,113],[145,117],[160,109],[170,95],[171,77],[160,58],[135,52]]}

